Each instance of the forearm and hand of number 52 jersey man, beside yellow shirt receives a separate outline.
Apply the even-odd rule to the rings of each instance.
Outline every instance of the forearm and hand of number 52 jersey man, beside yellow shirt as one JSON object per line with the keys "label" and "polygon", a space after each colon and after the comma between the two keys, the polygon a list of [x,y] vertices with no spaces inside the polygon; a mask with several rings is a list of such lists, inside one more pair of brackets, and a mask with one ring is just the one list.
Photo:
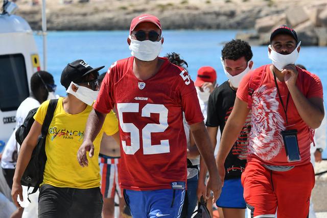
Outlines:
{"label": "forearm and hand of number 52 jersey man, beside yellow shirt", "polygon": [[[99,111],[96,111],[95,109],[92,109],[90,114],[88,115],[86,127],[85,127],[85,133],[84,133],[84,139],[83,143],[81,144],[78,152],[77,152],[77,160],[81,166],[88,166],[88,160],[86,156],[86,152],[89,152],[88,156],[91,158],[94,155],[94,144],[93,141],[99,134],[103,122],[106,118],[105,113],[101,113]],[[116,141],[118,138],[115,136],[114,138]]]}

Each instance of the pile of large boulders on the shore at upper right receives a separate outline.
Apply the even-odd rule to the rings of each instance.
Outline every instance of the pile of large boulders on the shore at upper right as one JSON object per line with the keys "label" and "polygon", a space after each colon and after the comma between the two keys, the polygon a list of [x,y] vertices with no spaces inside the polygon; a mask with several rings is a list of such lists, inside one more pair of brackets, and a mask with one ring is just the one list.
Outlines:
{"label": "pile of large boulders on the shore at upper right", "polygon": [[[296,15],[296,16],[294,16]],[[276,23],[287,23],[296,30],[302,46],[327,46],[327,2],[296,6],[281,13],[255,20],[255,33],[239,33],[237,38],[255,44],[268,44]]]}

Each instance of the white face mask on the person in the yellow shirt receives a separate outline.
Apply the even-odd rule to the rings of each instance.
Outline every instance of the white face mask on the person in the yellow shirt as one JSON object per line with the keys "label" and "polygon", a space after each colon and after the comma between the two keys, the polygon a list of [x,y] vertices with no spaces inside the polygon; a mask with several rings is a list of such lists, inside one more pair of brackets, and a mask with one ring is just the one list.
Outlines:
{"label": "white face mask on the person in the yellow shirt", "polygon": [[[78,87],[76,92],[72,89],[73,84],[76,87]],[[81,100],[82,102],[84,102],[85,104],[90,105],[90,106],[93,104],[94,101],[96,101],[96,99],[98,98],[98,93],[99,93],[99,91],[94,91],[94,90],[86,88],[84,86],[79,86],[79,85],[75,84],[74,82],[71,82],[71,85],[69,85],[66,92],[74,95],[76,98],[78,98],[79,100]]]}

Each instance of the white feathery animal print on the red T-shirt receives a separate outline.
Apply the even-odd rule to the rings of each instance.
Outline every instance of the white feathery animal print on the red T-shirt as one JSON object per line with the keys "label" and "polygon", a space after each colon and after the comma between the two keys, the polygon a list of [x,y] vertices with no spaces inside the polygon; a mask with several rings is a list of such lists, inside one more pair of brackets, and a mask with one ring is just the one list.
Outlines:
{"label": "white feathery animal print on the red T-shirt", "polygon": [[249,153],[262,160],[271,160],[282,148],[285,120],[278,112],[277,89],[265,85],[252,95],[252,129],[250,132]]}

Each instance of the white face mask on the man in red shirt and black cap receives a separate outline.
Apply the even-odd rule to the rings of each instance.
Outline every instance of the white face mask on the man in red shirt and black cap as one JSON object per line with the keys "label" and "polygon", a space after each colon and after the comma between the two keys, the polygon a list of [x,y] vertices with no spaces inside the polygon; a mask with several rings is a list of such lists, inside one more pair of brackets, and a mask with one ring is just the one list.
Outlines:
{"label": "white face mask on the man in red shirt and black cap", "polygon": [[269,57],[269,59],[272,60],[272,64],[279,71],[282,71],[286,65],[295,63],[295,61],[298,58],[297,48],[298,48],[298,46],[300,46],[300,44],[301,44],[301,42],[299,42],[297,44],[296,48],[294,49],[294,51],[291,54],[288,54],[288,55],[279,54],[279,53],[272,50],[271,45],[268,45],[269,49],[271,49],[270,54],[269,54],[269,51],[268,51],[268,57]]}

